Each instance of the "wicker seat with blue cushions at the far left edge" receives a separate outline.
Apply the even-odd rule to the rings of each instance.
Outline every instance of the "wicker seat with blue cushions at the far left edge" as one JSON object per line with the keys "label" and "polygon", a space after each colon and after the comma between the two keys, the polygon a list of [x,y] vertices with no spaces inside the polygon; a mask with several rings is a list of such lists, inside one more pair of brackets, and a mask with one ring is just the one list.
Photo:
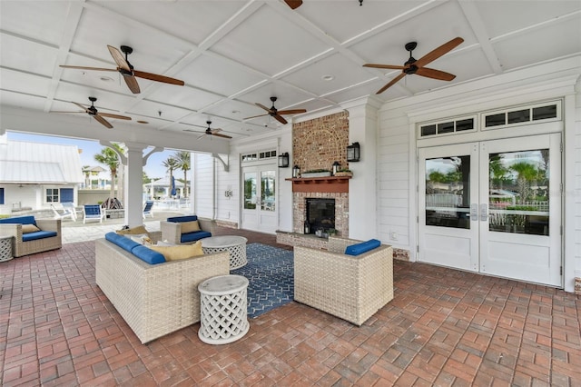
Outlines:
{"label": "wicker seat with blue cushions at the far left edge", "polygon": [[[25,233],[23,237],[23,224],[34,224],[41,231]],[[0,234],[14,236],[12,254],[15,257],[63,247],[60,219],[34,219],[30,215],[1,219]]]}

